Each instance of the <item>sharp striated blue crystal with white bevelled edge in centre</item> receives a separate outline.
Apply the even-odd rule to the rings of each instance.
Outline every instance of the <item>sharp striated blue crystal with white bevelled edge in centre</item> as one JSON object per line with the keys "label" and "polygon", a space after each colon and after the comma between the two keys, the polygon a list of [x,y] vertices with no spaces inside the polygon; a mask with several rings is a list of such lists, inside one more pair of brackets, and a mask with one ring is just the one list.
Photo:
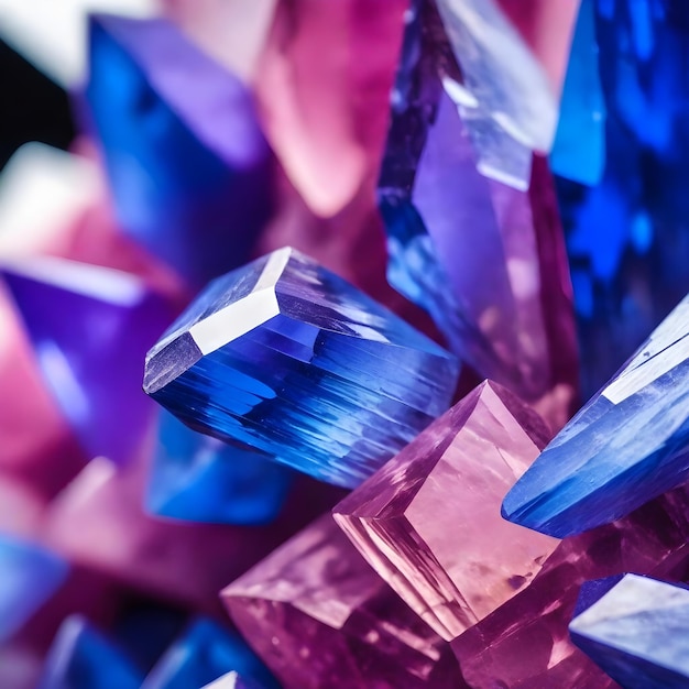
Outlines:
{"label": "sharp striated blue crystal with white bevelled edge in centre", "polygon": [[456,359],[285,248],[212,282],[149,352],[144,390],[196,430],[353,486],[448,408]]}

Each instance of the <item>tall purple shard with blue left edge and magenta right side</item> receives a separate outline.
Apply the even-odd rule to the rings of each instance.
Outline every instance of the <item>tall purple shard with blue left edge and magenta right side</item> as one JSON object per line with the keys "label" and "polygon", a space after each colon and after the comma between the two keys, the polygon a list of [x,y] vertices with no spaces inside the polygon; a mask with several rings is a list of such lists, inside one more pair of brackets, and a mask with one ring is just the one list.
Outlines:
{"label": "tall purple shard with blue left edge and magenta right side", "polygon": [[[559,390],[566,407],[576,338],[547,163],[525,150],[526,184],[516,186],[479,172],[462,73],[433,3],[417,4],[378,189],[389,280],[482,376],[532,403]],[[510,155],[505,147],[499,157]]]}

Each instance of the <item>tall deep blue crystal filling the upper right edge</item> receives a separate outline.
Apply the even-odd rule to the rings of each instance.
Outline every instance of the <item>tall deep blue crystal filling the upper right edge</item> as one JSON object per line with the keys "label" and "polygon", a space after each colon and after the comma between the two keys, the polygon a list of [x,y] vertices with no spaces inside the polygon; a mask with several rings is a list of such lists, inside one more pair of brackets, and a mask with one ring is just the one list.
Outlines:
{"label": "tall deep blue crystal filling the upper right edge", "polygon": [[689,4],[582,1],[551,161],[584,395],[689,292],[688,59]]}

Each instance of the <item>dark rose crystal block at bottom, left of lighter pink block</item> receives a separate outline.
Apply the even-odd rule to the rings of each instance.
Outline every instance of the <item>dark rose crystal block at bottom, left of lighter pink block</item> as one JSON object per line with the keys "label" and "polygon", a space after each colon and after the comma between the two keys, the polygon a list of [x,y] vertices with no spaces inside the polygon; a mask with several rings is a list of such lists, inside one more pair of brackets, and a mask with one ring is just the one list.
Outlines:
{"label": "dark rose crystal block at bottom, left of lighter pink block", "polygon": [[330,515],[221,595],[285,689],[464,686],[445,642],[365,564]]}

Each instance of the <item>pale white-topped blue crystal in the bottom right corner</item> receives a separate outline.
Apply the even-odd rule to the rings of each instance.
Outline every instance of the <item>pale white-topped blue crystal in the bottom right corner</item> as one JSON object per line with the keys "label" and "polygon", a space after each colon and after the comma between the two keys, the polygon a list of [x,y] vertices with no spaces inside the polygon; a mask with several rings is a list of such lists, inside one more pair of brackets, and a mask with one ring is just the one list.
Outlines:
{"label": "pale white-topped blue crystal in the bottom right corner", "polygon": [[569,631],[572,642],[626,689],[689,687],[689,590],[681,586],[626,575],[578,614]]}

